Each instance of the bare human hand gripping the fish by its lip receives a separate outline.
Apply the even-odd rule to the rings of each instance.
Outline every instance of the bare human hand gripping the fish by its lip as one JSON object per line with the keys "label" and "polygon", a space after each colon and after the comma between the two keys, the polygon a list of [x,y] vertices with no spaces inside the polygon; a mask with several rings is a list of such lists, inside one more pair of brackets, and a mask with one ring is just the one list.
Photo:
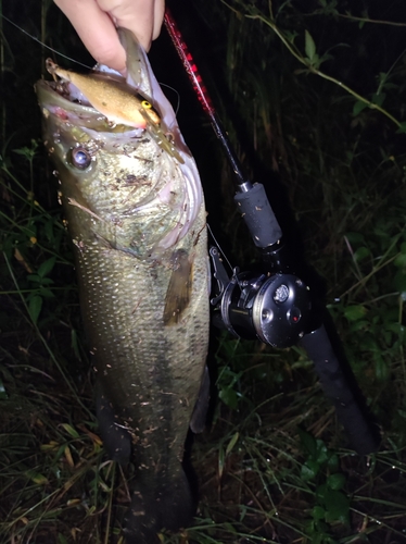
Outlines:
{"label": "bare human hand gripping the fish by its lip", "polygon": [[126,54],[116,27],[131,30],[149,51],[158,37],[165,0],[54,0],[75,27],[90,54],[101,64],[125,72]]}

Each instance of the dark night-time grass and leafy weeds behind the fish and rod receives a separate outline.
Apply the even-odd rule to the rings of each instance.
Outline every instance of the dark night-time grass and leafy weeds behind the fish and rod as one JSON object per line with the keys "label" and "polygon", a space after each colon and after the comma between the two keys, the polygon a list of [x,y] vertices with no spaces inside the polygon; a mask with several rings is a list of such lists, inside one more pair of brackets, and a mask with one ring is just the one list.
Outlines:
{"label": "dark night-time grass and leafy weeds behind the fish and rod", "polygon": [[[382,445],[366,458],[346,447],[304,351],[214,331],[218,398],[191,453],[199,511],[162,541],[406,542],[404,10],[394,0],[173,9],[246,171],[322,279]],[[91,65],[50,1],[4,15]],[[98,435],[72,250],[33,92],[52,53],[0,25],[0,541],[123,542],[131,470],[107,460]],[[249,268],[259,256],[234,211],[231,173],[167,37],[151,58],[180,92],[212,228],[231,262]]]}

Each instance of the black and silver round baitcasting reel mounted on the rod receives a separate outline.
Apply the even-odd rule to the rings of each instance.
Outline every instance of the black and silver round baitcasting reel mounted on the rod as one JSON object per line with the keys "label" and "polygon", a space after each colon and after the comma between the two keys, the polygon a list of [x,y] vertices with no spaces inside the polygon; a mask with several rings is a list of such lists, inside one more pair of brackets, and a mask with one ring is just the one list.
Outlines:
{"label": "black and silver round baitcasting reel mounted on the rod", "polygon": [[312,331],[309,288],[293,274],[240,272],[229,277],[216,247],[210,249],[218,294],[213,322],[233,336],[290,347]]}

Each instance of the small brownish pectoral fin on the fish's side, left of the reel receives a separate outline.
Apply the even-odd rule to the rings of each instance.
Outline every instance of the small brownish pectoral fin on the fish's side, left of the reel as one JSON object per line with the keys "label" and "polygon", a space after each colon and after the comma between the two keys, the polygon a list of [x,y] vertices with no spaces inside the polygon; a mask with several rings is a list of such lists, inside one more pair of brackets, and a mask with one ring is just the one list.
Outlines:
{"label": "small brownish pectoral fin on the fish's side, left of the reel", "polygon": [[164,323],[176,325],[190,302],[193,280],[193,263],[185,249],[178,249],[173,256],[173,272],[166,292]]}

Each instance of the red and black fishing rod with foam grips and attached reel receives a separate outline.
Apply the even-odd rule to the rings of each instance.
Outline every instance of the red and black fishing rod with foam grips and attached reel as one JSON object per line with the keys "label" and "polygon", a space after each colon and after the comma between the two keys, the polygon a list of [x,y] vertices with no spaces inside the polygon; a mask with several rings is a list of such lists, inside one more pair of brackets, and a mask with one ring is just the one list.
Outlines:
{"label": "red and black fishing rod with foam grips and attached reel", "polygon": [[264,185],[252,183],[243,174],[193,57],[167,8],[164,22],[232,169],[237,207],[267,267],[262,273],[240,272],[236,268],[230,277],[217,248],[210,248],[218,289],[211,300],[214,323],[236,337],[258,338],[279,348],[302,346],[315,364],[322,390],[332,400],[352,447],[360,455],[371,454],[378,449],[379,433],[366,413],[355,378],[337,347],[338,338],[327,332],[331,322],[328,310],[317,293],[310,292],[296,275],[299,263],[283,240]]}

